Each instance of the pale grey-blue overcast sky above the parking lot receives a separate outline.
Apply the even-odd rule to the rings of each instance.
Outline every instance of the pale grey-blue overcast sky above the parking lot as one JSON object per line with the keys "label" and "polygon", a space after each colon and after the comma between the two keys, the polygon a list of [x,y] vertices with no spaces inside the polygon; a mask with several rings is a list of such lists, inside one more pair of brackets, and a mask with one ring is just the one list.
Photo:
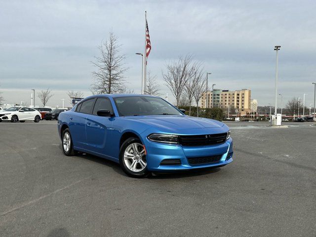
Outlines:
{"label": "pale grey-blue overcast sky above the parking lot", "polygon": [[[165,63],[193,54],[211,72],[216,88],[252,90],[259,105],[274,104],[276,51],[278,92],[283,100],[314,100],[316,1],[0,1],[0,91],[5,103],[31,104],[31,89],[50,88],[48,105],[61,105],[68,90],[90,95],[91,64],[112,28],[126,55],[125,77],[141,87],[144,11],[152,42],[148,70],[161,94]],[[40,105],[36,98],[36,104]]]}

